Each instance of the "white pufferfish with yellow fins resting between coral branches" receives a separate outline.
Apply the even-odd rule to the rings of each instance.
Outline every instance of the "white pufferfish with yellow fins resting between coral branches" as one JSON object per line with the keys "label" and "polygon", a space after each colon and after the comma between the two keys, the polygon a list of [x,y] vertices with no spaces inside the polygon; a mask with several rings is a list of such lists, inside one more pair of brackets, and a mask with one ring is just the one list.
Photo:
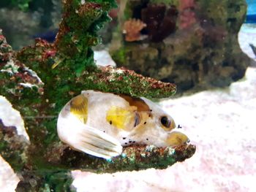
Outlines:
{"label": "white pufferfish with yellow fins resting between coral branches", "polygon": [[129,145],[175,147],[189,142],[153,101],[92,90],[67,102],[59,113],[57,132],[72,149],[105,159],[121,155]]}

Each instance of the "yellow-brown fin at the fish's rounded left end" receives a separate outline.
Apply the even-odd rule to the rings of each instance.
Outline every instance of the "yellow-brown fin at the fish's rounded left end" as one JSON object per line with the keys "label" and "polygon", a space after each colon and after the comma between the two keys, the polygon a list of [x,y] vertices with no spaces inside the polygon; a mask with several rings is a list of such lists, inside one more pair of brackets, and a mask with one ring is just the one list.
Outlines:
{"label": "yellow-brown fin at the fish's rounded left end", "polygon": [[83,95],[76,96],[70,101],[70,112],[80,121],[86,123],[88,117],[88,99]]}

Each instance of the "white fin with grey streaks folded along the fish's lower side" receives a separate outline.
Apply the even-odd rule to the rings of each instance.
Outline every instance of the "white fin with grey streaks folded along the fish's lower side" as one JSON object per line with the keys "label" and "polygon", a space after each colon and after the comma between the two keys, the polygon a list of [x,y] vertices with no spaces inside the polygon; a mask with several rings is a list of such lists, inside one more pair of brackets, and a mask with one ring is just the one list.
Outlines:
{"label": "white fin with grey streaks folded along the fish's lower side", "polygon": [[112,158],[121,155],[123,147],[117,139],[99,131],[97,128],[86,126],[78,136],[78,150],[101,158]]}

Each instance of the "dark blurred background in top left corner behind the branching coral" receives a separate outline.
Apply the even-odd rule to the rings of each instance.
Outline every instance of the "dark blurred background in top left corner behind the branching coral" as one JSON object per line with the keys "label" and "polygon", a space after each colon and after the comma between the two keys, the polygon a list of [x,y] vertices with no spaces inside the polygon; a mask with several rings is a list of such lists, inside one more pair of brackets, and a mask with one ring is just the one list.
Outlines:
{"label": "dark blurred background in top left corner behind the branching coral", "polygon": [[35,37],[54,37],[60,20],[59,0],[0,1],[0,26],[14,50],[32,45]]}

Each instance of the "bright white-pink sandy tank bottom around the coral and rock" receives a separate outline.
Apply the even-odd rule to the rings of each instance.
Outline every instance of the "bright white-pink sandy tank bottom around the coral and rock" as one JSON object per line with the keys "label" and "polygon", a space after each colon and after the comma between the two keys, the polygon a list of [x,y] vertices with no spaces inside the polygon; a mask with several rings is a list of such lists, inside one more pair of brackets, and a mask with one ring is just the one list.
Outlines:
{"label": "bright white-pink sandy tank bottom around the coral and rock", "polygon": [[[238,35],[241,48],[251,58],[249,43],[256,45],[256,28],[243,26]],[[159,103],[197,145],[192,158],[165,170],[94,174],[72,172],[78,191],[256,191],[256,68],[230,87],[203,91]],[[0,98],[0,117],[20,125],[10,105]],[[4,115],[5,114],[5,115]],[[14,191],[18,177],[0,158],[0,191]]]}

